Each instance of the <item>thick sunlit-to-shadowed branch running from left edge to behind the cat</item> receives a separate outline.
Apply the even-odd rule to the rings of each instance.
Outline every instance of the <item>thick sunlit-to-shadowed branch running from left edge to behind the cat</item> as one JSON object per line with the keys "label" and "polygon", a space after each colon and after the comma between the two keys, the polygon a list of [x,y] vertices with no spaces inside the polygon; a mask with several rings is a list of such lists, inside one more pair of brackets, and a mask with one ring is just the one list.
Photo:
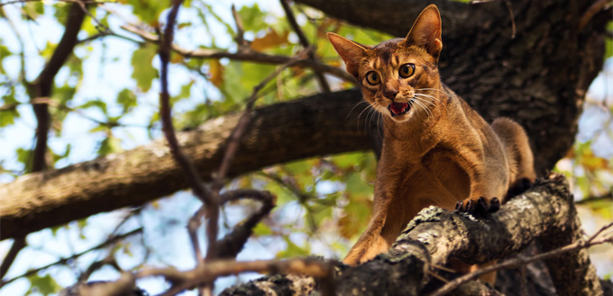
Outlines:
{"label": "thick sunlit-to-shadowed branch running from left edge to behind the cat", "polygon": [[[371,148],[365,121],[357,121],[361,94],[318,94],[255,110],[227,176],[304,157]],[[363,104],[362,104],[363,105]],[[219,167],[241,114],[178,134],[203,181]],[[101,211],[140,205],[188,187],[162,140],[59,170],[0,184],[0,238],[14,238]]]}

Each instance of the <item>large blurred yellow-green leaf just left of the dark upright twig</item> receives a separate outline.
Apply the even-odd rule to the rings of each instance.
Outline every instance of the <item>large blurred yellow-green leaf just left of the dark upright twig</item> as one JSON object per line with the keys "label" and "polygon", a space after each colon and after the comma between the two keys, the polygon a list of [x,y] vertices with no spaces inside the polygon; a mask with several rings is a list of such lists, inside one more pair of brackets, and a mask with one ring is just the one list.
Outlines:
{"label": "large blurred yellow-green leaf just left of the dark upright twig", "polygon": [[158,50],[155,46],[148,44],[140,49],[134,50],[132,56],[132,77],[136,79],[136,85],[143,91],[147,92],[151,88],[151,82],[158,77],[158,70],[153,67],[152,61]]}

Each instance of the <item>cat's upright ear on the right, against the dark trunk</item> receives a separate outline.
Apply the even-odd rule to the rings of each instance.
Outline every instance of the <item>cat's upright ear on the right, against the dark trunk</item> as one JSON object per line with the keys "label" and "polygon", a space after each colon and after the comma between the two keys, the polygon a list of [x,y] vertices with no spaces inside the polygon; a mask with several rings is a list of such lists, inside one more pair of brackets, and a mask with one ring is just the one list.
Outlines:
{"label": "cat's upright ear on the right, against the dark trunk", "polygon": [[430,4],[419,13],[405,42],[407,45],[424,48],[438,60],[441,49],[443,49],[443,41],[441,39],[441,13],[438,12],[435,4]]}

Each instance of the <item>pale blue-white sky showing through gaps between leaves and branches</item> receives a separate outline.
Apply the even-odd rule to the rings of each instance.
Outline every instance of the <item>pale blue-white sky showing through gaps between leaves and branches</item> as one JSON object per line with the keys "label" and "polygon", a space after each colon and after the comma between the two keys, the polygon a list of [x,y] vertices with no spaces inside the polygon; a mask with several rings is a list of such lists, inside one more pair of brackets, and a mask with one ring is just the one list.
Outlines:
{"label": "pale blue-white sky showing through gaps between leaves and branches", "polygon": [[[242,4],[252,4],[253,2],[259,3],[263,10],[279,15],[283,14],[278,1],[212,1],[210,4],[214,6],[215,12],[222,16],[226,22],[233,23],[231,21],[230,4],[233,3],[237,7],[241,7]],[[109,4],[109,6],[123,15],[124,18],[128,18],[128,21],[135,21],[129,19],[130,12],[126,11],[122,5]],[[38,18],[36,23],[33,23],[23,22],[16,8],[17,7],[14,5],[5,6],[6,12],[12,17],[14,22],[17,23],[17,28],[23,36],[27,57],[27,79],[32,81],[44,65],[44,60],[40,58],[38,49],[44,49],[48,41],[57,42],[62,33],[61,26],[52,21],[52,17],[50,16],[50,13],[52,13],[51,9],[46,10],[46,14]],[[189,22],[194,18],[196,18],[196,15],[190,15],[187,11],[182,11],[179,13],[178,22]],[[110,26],[114,31],[121,32],[126,36],[131,36],[138,40],[137,36],[133,36],[119,28],[123,20],[110,19],[110,21]],[[228,48],[233,49],[231,45],[232,40],[229,36],[224,34],[224,28],[216,22],[212,22],[211,25],[214,26],[213,31],[221,32],[218,36],[215,36],[217,45],[222,47],[226,45]],[[195,40],[197,40],[197,42]],[[196,45],[200,43],[210,44],[210,37],[206,35],[206,32],[194,29],[192,31],[178,33],[176,42],[185,48],[195,48]],[[78,94],[75,95],[71,105],[78,106],[97,98],[108,103],[110,106],[114,106],[110,108],[112,113],[118,113],[120,110],[114,103],[118,90],[125,87],[134,87],[134,82],[131,78],[132,73],[126,70],[131,68],[131,56],[125,55],[124,53],[132,53],[133,50],[136,49],[136,45],[132,42],[112,37],[106,38],[104,43],[104,55],[102,54],[104,51],[102,50],[102,41],[91,42],[89,44],[91,50],[77,50],[76,54],[79,57],[87,56],[88,58],[83,65],[85,75],[81,82],[80,90]],[[9,29],[5,19],[0,19],[0,44],[7,46],[14,52],[20,50],[14,33]],[[102,58],[112,60],[112,62],[100,63]],[[154,59],[154,66],[159,66],[157,58]],[[5,58],[4,67],[9,76],[16,77],[19,68],[19,59],[16,56]],[[180,67],[170,67],[170,71],[170,94],[178,94],[178,85],[181,85],[181,83],[178,83],[179,81],[188,81],[189,79],[196,80],[193,91],[191,92],[192,96],[188,100],[176,105],[173,112],[187,111],[196,103],[206,100],[206,98],[215,100],[221,95],[215,87],[209,85],[204,79],[194,76]],[[63,69],[57,76],[56,81],[63,83],[69,80],[68,77],[68,71]],[[610,85],[613,85],[611,77],[613,77],[613,60],[608,59],[602,75],[599,76],[590,87],[588,96],[591,101],[596,103],[586,105],[586,113],[581,116],[579,123],[580,134],[578,135],[578,139],[583,140],[592,139],[595,137],[594,135],[599,134],[594,144],[594,152],[599,156],[607,158],[613,157],[613,142],[610,134],[607,136],[606,132],[601,132],[603,122],[607,121],[607,113],[603,112],[601,108],[598,107],[598,102],[607,101],[608,105],[613,104],[613,95],[609,90],[609,87],[611,87]],[[69,83],[76,82],[69,81]],[[202,89],[204,89],[205,92],[197,91]],[[122,139],[122,148],[135,148],[151,140],[146,127],[149,124],[151,114],[158,108],[158,90],[159,85],[157,81],[154,81],[149,92],[138,94],[139,106],[130,116],[124,118],[122,121],[125,125],[131,125],[133,127],[117,130],[115,134],[116,137]],[[23,103],[29,100],[23,92],[17,96],[17,99]],[[13,126],[0,129],[0,143],[2,143],[2,145],[0,145],[0,161],[3,162],[5,168],[10,168],[15,171],[23,169],[23,166],[16,161],[15,150],[17,148],[32,148],[33,130],[35,130],[36,126],[36,120],[33,117],[31,105],[23,104],[18,107],[18,110],[22,115],[21,118],[16,121]],[[84,113],[89,117],[105,120],[104,114],[93,108],[85,110]],[[608,116],[610,116],[610,114]],[[613,130],[613,122],[609,122],[609,124],[608,130]],[[96,155],[96,149],[99,146],[99,142],[105,138],[105,134],[90,133],[89,130],[95,127],[96,123],[92,121],[88,121],[76,114],[69,115],[64,122],[61,136],[52,137],[49,142],[50,148],[52,148],[55,153],[59,154],[65,151],[66,143],[71,143],[70,155],[68,158],[60,160],[58,164],[59,167],[89,160]],[[153,137],[159,138],[160,131],[158,130],[157,133],[154,132]],[[13,177],[10,175],[0,175],[0,182],[6,183],[12,180]],[[188,269],[194,266],[187,231],[183,229],[187,224],[188,217],[185,213],[196,211],[198,206],[199,202],[190,193],[181,192],[174,194],[168,199],[160,200],[156,205],[148,205],[145,207],[142,214],[142,220],[144,220],[144,224],[146,225],[144,239],[147,240],[148,243],[154,247],[156,253],[158,253],[157,256],[151,258],[151,264],[162,265],[167,262],[172,262],[173,265],[177,265],[179,269]],[[233,218],[243,217],[241,209],[229,211],[231,212],[228,213],[227,217],[229,217],[231,224],[237,222],[237,220],[233,220]],[[287,222],[293,222],[296,217],[302,217],[301,214],[297,214],[297,211],[299,211],[299,207],[293,209],[288,208],[284,211],[287,217],[281,217],[281,219]],[[70,223],[69,229],[59,229],[55,235],[51,233],[50,229],[31,234],[28,236],[28,244],[31,247],[22,251],[6,277],[12,278],[16,275],[23,274],[28,268],[50,264],[58,260],[61,256],[69,256],[97,245],[99,242],[105,240],[106,236],[114,229],[114,225],[121,221],[127,213],[127,210],[122,210],[96,215],[88,219],[87,226],[80,230],[76,223]],[[299,221],[297,223],[299,223]],[[587,220],[587,223],[596,222]],[[125,223],[124,229],[128,231],[137,227],[137,225],[137,220],[130,220]],[[140,238],[134,239],[138,240]],[[293,239],[300,241],[305,238],[301,238],[300,234],[296,234]],[[5,256],[10,245],[10,241],[0,242],[0,257]],[[243,252],[239,256],[239,259],[274,258],[277,252],[284,247],[285,242],[283,241],[252,241],[248,251]],[[126,269],[138,264],[142,260],[142,255],[144,253],[142,249],[132,249],[131,251],[133,252],[132,257],[121,252],[118,253],[120,262],[124,264],[123,267]],[[338,256],[337,254],[326,253],[324,246],[315,246],[314,251],[324,256]],[[85,269],[92,260],[96,258],[100,259],[100,256],[103,255],[104,252],[91,252],[73,262],[71,264],[75,267],[73,270],[69,268],[51,268],[48,273],[58,280],[60,285],[67,286],[74,283],[76,280],[75,270]],[[606,270],[604,267],[598,270],[601,272],[603,269]],[[117,274],[114,270],[104,268],[93,274],[91,280],[108,280],[116,276]],[[258,274],[251,274],[242,278],[244,280],[259,276]],[[235,283],[234,278],[227,278],[218,282],[217,286],[221,288],[233,283]],[[151,294],[161,292],[165,287],[165,284],[159,279],[147,279],[139,282],[139,284]],[[0,294],[23,295],[28,289],[29,283],[26,280],[18,280],[0,289]],[[194,293],[186,293],[185,295],[189,294]]]}

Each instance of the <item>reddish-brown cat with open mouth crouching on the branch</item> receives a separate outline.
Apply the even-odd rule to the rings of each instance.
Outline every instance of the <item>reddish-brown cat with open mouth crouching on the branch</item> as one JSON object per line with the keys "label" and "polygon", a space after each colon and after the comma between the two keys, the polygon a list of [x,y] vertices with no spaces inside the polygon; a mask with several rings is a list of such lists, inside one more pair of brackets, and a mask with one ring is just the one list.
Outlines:
{"label": "reddish-brown cat with open mouth crouching on the branch", "polygon": [[364,99],[383,113],[374,210],[343,262],[357,265],[391,247],[418,211],[498,211],[509,188],[535,180],[526,132],[515,121],[489,125],[444,85],[441,16],[434,4],[407,38],[366,46],[328,33]]}

